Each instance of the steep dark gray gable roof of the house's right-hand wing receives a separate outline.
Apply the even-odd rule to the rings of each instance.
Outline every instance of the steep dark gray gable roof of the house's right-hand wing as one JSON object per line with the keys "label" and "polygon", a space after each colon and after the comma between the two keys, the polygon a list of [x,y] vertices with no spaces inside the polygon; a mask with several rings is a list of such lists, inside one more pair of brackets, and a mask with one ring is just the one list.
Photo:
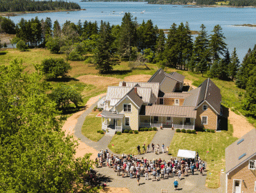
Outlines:
{"label": "steep dark gray gable roof of the house's right-hand wing", "polygon": [[[206,79],[199,85],[201,88],[197,106],[203,101],[208,103],[216,110],[218,114],[221,112],[221,90],[215,85],[211,79]],[[197,107],[196,107],[197,108]]]}

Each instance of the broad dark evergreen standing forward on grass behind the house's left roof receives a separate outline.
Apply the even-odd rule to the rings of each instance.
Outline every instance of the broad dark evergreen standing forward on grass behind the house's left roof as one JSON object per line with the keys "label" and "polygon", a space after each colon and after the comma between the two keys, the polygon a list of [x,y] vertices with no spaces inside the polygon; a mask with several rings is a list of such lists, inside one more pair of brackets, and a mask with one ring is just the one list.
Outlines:
{"label": "broad dark evergreen standing forward on grass behind the house's left roof", "polygon": [[113,69],[113,65],[117,64],[116,60],[113,59],[113,52],[111,52],[112,42],[113,38],[111,37],[109,23],[101,22],[99,39],[94,54],[96,69],[100,70],[100,73],[110,72]]}

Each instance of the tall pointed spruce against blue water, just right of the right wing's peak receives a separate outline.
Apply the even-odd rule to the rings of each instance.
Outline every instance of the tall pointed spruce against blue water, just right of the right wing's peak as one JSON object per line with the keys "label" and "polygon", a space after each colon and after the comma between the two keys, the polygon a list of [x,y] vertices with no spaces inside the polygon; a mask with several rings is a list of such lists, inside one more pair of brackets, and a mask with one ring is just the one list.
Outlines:
{"label": "tall pointed spruce against blue water, just right of the right wing's peak", "polygon": [[212,54],[212,60],[220,59],[226,51],[226,43],[221,26],[214,26],[212,30],[213,34],[210,35],[210,53]]}

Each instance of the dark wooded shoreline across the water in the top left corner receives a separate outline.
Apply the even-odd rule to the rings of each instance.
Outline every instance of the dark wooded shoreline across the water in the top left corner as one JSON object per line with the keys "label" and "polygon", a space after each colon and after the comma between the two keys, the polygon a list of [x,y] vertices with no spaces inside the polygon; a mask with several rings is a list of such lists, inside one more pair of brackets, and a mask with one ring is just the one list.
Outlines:
{"label": "dark wooded shoreline across the water in the top left corner", "polygon": [[0,0],[0,12],[24,12],[45,10],[81,9],[77,3],[64,0],[35,1],[35,0]]}

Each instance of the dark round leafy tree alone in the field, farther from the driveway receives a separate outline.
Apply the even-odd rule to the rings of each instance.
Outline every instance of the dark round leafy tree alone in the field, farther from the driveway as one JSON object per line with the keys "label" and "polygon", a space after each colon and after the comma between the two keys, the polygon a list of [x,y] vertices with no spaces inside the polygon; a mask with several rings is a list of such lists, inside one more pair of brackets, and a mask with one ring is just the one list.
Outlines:
{"label": "dark round leafy tree alone in the field, farther from the driveway", "polygon": [[68,70],[71,70],[71,65],[65,62],[64,59],[44,59],[41,70],[46,79],[55,79],[66,76]]}

